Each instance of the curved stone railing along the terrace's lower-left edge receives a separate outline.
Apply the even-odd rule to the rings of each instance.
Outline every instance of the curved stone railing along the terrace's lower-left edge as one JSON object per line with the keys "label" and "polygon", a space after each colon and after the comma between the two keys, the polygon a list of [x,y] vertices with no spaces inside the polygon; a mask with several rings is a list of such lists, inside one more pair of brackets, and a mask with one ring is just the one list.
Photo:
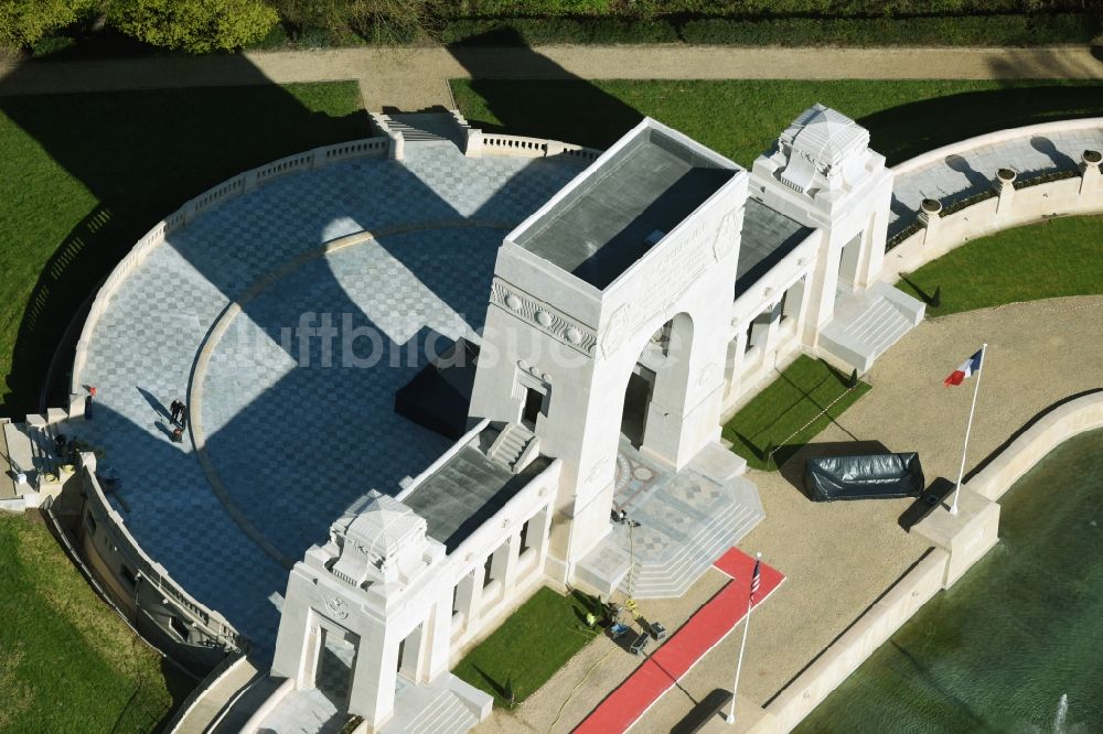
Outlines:
{"label": "curved stone railing along the terrace's lower-left edge", "polygon": [[162,597],[171,598],[175,605],[201,622],[206,634],[217,639],[223,647],[247,651],[248,640],[229,624],[226,617],[184,591],[184,587],[169,575],[164,566],[150,558],[138,544],[138,540],[127,529],[126,520],[111,507],[99,486],[99,479],[96,477],[96,457],[93,454],[82,454],[81,463],[87,487],[88,512],[110,535],[111,546],[116,552],[133,563],[137,566],[135,572],[153,584]]}

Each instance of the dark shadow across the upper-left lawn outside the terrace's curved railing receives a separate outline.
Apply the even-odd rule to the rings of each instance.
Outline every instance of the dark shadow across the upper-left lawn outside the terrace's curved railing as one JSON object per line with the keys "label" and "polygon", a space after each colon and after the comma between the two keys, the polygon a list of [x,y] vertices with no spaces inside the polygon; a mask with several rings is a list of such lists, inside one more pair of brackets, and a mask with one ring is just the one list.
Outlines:
{"label": "dark shadow across the upper-left lawn outside the terrace's curved railing", "polygon": [[[315,112],[244,56],[225,56],[221,63],[226,77],[249,86],[6,96],[6,89],[23,88],[22,77],[33,75],[34,63],[0,79],[0,111],[98,202],[58,244],[34,284],[0,390],[0,414],[39,409],[43,376],[66,331],[71,338],[58,371],[72,364],[83,322],[74,314],[162,217],[250,168],[370,134],[363,110],[344,117]],[[171,79],[165,83],[171,86]],[[42,187],[35,173],[17,173],[28,176],[19,184],[32,192]],[[38,195],[55,192],[43,188]],[[55,377],[66,381],[64,374]],[[44,397],[64,404],[66,392],[63,387]]]}

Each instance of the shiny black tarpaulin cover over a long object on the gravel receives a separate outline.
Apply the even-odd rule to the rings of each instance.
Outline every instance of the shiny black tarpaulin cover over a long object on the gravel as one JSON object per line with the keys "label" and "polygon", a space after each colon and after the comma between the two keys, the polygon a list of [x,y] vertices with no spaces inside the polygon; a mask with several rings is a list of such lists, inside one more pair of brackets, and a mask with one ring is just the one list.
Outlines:
{"label": "shiny black tarpaulin cover over a long object on the gravel", "polygon": [[817,503],[923,494],[919,454],[824,456],[804,465],[804,488]]}

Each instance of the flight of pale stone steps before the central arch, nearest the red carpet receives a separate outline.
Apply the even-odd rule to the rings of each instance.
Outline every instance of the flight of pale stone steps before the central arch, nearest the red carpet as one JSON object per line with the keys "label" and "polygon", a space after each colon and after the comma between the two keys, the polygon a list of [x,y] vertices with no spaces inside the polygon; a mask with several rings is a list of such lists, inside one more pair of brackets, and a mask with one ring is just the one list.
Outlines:
{"label": "flight of pale stone steps before the central arch, nearest the red carpet", "polygon": [[[728,503],[707,521],[697,520],[692,535],[673,550],[649,557],[646,550],[641,549],[634,568],[625,574],[618,590],[634,598],[682,596],[716,559],[736,546],[762,518],[761,508],[740,501]],[[638,515],[636,520],[641,527],[633,528],[633,533],[640,533],[649,525],[660,529],[665,525],[664,518],[645,514]]]}

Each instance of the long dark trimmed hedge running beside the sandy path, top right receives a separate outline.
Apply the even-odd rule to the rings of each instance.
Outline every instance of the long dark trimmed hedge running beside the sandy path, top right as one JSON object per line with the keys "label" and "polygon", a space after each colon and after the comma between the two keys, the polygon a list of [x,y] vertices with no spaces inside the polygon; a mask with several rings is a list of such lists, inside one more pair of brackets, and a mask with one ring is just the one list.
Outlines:
{"label": "long dark trimmed hedge running beside the sandy path, top right", "polygon": [[1040,46],[1088,43],[1100,21],[1086,13],[918,18],[612,18],[450,20],[440,41],[482,45],[689,43],[781,46]]}

